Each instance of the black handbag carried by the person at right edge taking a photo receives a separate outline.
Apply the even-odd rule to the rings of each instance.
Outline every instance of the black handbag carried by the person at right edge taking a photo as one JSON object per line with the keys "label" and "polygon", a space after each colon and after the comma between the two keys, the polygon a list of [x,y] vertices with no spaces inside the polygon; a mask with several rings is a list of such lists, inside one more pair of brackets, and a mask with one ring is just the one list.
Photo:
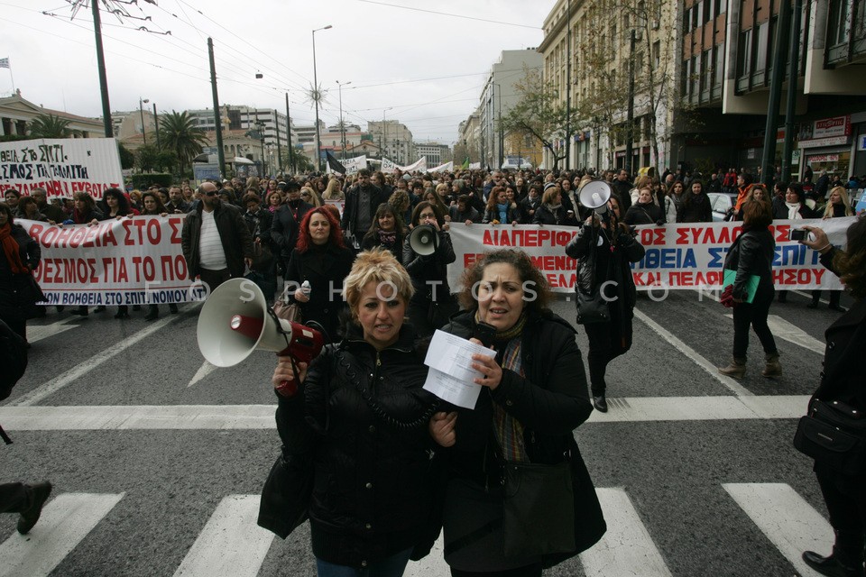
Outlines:
{"label": "black handbag carried by the person at right edge taking a photo", "polygon": [[794,435],[797,451],[846,475],[866,473],[866,417],[839,401],[813,398]]}

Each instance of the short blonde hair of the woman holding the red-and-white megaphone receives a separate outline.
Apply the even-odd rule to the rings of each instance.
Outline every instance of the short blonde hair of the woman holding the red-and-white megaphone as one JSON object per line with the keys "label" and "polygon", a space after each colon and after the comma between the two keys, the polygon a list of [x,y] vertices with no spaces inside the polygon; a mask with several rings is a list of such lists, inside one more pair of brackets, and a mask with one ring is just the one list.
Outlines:
{"label": "short blonde hair of the woman holding the red-and-white megaphone", "polygon": [[391,251],[376,247],[370,251],[364,251],[355,257],[352,270],[343,283],[343,298],[352,311],[352,318],[358,318],[358,304],[361,302],[361,292],[369,283],[377,285],[389,285],[396,289],[397,297],[404,303],[415,294],[412,287],[412,279]]}

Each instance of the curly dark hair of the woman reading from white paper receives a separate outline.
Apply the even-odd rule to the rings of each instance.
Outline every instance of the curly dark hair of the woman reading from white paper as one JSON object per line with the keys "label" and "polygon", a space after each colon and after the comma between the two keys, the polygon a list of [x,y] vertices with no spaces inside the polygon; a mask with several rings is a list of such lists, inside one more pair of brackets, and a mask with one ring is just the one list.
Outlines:
{"label": "curly dark hair of the woman reading from white paper", "polygon": [[478,308],[478,301],[475,300],[475,295],[478,294],[477,283],[484,277],[484,269],[488,265],[498,262],[510,264],[514,270],[517,270],[524,287],[523,299],[526,302],[527,313],[530,316],[540,315],[550,302],[548,281],[541,274],[541,271],[532,264],[529,255],[516,249],[487,252],[484,254],[484,258],[475,261],[474,265],[464,271],[461,278],[463,290],[457,295],[460,306],[465,310]]}

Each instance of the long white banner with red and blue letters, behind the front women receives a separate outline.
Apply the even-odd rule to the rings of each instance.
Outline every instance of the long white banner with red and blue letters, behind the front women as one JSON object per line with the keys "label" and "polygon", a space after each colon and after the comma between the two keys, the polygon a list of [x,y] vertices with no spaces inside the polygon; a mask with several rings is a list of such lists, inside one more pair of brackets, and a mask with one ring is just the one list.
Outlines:
{"label": "long white banner with red and blue letters, behind the front women", "polygon": [[[853,222],[854,217],[774,222],[770,231],[776,240],[776,289],[842,289],[839,279],[818,260],[818,252],[788,237],[792,229],[808,224],[823,229],[830,243],[844,248],[845,231]],[[638,290],[721,289],[724,257],[741,227],[742,223],[639,226],[637,240],[646,255],[631,265],[635,286]],[[448,283],[455,290],[465,268],[484,252],[500,248],[527,252],[554,292],[574,290],[576,261],[566,256],[565,247],[577,233],[576,227],[452,224],[450,232],[456,261],[448,265]]]}

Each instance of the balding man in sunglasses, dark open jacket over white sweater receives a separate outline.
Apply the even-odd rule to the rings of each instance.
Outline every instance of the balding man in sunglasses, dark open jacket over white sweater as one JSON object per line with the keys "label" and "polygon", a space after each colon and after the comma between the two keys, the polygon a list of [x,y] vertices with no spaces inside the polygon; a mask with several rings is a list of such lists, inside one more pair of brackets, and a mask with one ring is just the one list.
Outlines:
{"label": "balding man in sunglasses, dark open jacket over white sweater", "polygon": [[189,278],[201,277],[209,291],[228,279],[244,276],[253,263],[253,237],[241,211],[217,197],[217,185],[199,188],[201,202],[183,221],[181,244]]}

